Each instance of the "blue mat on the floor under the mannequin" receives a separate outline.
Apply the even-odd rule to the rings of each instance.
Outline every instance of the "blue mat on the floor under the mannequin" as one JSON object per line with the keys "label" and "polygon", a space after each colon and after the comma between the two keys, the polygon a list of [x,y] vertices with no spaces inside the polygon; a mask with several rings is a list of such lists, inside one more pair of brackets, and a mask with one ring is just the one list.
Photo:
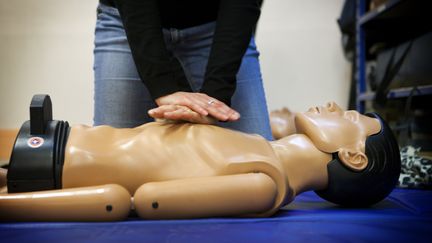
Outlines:
{"label": "blue mat on the floor under the mannequin", "polygon": [[432,242],[432,191],[396,189],[383,202],[341,208],[304,193],[270,218],[113,223],[1,223],[0,242]]}

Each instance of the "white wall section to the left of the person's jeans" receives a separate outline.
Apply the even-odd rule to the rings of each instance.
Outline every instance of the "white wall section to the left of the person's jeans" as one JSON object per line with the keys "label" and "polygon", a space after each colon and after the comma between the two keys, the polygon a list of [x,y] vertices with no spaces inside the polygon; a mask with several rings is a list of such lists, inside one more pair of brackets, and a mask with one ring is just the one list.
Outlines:
{"label": "white wall section to the left of the person's jeans", "polygon": [[97,0],[0,0],[0,128],[28,120],[36,93],[54,118],[92,124]]}

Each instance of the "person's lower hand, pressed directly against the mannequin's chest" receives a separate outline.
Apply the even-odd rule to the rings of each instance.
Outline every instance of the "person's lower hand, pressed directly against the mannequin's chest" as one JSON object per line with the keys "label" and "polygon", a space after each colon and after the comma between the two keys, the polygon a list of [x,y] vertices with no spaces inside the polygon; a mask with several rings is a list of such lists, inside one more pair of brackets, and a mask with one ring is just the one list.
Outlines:
{"label": "person's lower hand, pressed directly against the mannequin's chest", "polygon": [[148,114],[155,119],[183,120],[192,123],[214,124],[216,119],[210,116],[203,116],[183,105],[161,105],[148,111]]}

